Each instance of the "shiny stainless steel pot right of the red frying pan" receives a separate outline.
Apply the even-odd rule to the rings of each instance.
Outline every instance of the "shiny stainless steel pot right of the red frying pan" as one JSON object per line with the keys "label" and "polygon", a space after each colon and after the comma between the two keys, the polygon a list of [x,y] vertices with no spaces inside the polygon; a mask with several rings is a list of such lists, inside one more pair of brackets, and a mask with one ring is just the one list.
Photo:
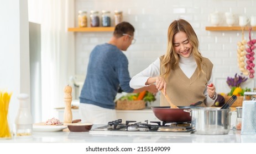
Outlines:
{"label": "shiny stainless steel pot right of the red frying pan", "polygon": [[231,109],[220,108],[191,108],[184,109],[191,113],[191,123],[195,134],[217,135],[228,134],[231,125]]}

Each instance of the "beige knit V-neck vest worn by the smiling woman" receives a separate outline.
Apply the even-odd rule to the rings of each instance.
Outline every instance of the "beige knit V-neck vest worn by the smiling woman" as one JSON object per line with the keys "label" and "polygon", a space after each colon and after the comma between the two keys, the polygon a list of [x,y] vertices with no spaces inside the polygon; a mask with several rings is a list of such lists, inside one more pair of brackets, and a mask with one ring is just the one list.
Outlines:
{"label": "beige knit V-neck vest worn by the smiling woman", "polygon": [[[163,57],[160,57],[160,74],[163,74]],[[207,59],[202,59],[202,70],[198,76],[198,68],[196,68],[191,78],[182,72],[180,67],[170,71],[168,80],[166,80],[166,94],[170,97],[171,102],[176,106],[189,106],[192,103],[202,101],[200,106],[205,107],[206,96],[203,94],[208,81],[211,78],[213,64]],[[160,96],[160,106],[170,106],[163,94]]]}

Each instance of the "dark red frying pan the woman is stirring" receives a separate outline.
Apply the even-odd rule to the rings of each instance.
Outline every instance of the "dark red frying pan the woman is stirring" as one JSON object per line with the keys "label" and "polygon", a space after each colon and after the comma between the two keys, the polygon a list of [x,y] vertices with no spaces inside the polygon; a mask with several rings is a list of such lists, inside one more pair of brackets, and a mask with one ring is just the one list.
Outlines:
{"label": "dark red frying pan the woman is stirring", "polygon": [[190,106],[177,106],[179,108],[170,108],[170,106],[151,107],[155,117],[163,122],[186,123],[191,122],[190,113],[184,112],[184,109],[198,108],[202,102],[197,102]]}

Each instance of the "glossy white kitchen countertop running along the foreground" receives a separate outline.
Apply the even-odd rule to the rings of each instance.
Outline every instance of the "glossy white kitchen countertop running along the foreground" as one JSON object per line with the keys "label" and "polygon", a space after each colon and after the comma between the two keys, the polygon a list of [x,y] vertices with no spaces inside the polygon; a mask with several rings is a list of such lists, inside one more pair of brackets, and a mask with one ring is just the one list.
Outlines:
{"label": "glossy white kitchen countertop running along the foreground", "polygon": [[[98,127],[98,126],[94,126]],[[241,135],[241,131],[231,130],[227,135],[168,134],[149,135],[107,135],[90,134],[88,132],[33,132],[31,138],[12,138],[0,142],[51,143],[256,143],[256,135]]]}

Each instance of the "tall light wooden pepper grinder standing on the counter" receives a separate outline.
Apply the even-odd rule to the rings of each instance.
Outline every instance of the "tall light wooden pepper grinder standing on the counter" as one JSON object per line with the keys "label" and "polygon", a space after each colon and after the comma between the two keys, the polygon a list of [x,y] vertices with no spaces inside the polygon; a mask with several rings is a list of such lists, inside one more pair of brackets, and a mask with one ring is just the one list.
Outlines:
{"label": "tall light wooden pepper grinder standing on the counter", "polygon": [[64,88],[64,101],[65,101],[65,110],[64,110],[64,125],[72,123],[72,111],[71,111],[71,102],[72,102],[72,87],[67,85]]}

